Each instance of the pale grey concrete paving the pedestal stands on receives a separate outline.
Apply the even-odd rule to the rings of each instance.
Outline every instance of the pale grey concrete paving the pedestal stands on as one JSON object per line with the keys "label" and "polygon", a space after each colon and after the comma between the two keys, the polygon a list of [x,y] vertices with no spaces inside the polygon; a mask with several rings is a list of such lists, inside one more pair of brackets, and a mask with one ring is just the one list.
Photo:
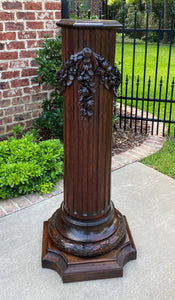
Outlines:
{"label": "pale grey concrete paving the pedestal stands on", "polygon": [[112,172],[111,199],[126,215],[138,252],[123,278],[63,284],[41,268],[43,221],[62,198],[52,195],[0,219],[0,299],[175,299],[175,180],[138,162]]}

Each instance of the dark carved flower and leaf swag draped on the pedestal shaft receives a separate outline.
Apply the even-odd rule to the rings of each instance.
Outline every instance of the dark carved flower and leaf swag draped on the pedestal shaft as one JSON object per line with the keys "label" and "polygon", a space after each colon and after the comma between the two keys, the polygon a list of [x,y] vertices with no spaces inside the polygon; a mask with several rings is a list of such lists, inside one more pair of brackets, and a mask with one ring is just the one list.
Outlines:
{"label": "dark carved flower and leaf swag draped on the pedestal shaft", "polygon": [[93,76],[100,76],[100,83],[106,89],[112,90],[116,96],[120,85],[120,72],[116,66],[109,66],[108,62],[99,54],[86,47],[75,53],[65,62],[65,65],[56,73],[56,81],[61,86],[62,95],[67,86],[77,78],[80,83],[79,102],[81,105],[80,114],[84,120],[93,115],[95,83]]}

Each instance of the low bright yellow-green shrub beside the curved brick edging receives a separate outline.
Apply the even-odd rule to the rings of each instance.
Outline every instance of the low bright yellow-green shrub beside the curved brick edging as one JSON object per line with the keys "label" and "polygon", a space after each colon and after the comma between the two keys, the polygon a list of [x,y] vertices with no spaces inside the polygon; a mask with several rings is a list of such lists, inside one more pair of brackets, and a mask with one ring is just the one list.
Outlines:
{"label": "low bright yellow-green shrub beside the curved brick edging", "polygon": [[0,143],[0,198],[48,193],[62,176],[63,145],[58,139],[37,143],[28,133]]}

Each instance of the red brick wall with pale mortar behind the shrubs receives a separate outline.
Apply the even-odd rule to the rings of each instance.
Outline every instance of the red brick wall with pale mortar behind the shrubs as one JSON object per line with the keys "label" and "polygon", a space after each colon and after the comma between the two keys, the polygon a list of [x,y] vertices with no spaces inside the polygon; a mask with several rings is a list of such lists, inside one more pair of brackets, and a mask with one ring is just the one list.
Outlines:
{"label": "red brick wall with pale mortar behind the shrubs", "polygon": [[61,0],[0,2],[0,135],[13,126],[24,128],[38,117],[48,87],[32,82],[36,74],[34,51],[45,33],[57,34]]}

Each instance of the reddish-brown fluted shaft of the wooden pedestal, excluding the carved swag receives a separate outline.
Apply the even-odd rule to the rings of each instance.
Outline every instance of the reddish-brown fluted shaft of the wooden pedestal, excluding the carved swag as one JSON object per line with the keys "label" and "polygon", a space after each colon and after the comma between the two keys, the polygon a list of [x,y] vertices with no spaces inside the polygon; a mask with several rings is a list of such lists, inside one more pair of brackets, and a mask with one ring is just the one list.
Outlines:
{"label": "reddish-brown fluted shaft of the wooden pedestal, excluding the carved swag", "polygon": [[[63,24],[67,23],[64,21]],[[62,35],[66,37],[63,44],[63,49],[66,49],[63,64],[71,54],[87,46],[100,53],[110,65],[114,64],[115,28],[94,30],[88,27],[72,30],[65,25]],[[98,88],[94,118],[88,121],[84,121],[79,113],[77,83],[74,82],[64,93],[64,209],[72,217],[88,220],[94,219],[94,216],[104,216],[110,210],[113,95],[100,85],[98,77],[95,79],[95,86]]]}

